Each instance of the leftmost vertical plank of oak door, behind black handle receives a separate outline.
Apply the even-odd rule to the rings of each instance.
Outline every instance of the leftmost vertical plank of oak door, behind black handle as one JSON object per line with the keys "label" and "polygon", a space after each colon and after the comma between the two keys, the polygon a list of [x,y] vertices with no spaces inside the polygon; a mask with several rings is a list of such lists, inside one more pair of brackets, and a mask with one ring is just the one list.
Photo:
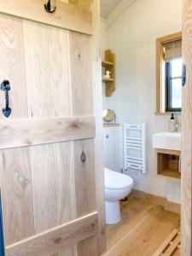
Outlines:
{"label": "leftmost vertical plank of oak door, behind black handle", "polygon": [[[23,22],[0,15],[0,82],[9,79],[9,119],[27,118],[26,73],[23,45]],[[4,93],[0,108],[5,107]],[[5,117],[0,114],[0,122]],[[3,230],[5,245],[34,234],[32,209],[32,173],[27,148],[0,150],[0,186],[3,201]]]}

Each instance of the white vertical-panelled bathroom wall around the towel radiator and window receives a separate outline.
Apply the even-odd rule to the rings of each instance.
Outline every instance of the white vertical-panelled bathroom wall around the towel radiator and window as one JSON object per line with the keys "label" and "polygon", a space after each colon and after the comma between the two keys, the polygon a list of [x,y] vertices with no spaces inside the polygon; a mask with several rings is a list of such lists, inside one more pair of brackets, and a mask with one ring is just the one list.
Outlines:
{"label": "white vertical-panelled bathroom wall around the towel radiator and window", "polygon": [[[148,172],[146,175],[138,171],[130,173],[138,183],[136,189],[180,202],[180,183],[156,176],[152,135],[167,131],[169,119],[168,115],[154,114],[155,39],[181,31],[182,0],[136,0],[130,6],[126,4],[123,12],[116,15],[114,12],[115,9],[113,16],[118,18],[113,20],[106,31],[101,22],[102,49],[112,49],[116,55],[117,82],[113,96],[103,96],[103,108],[113,109],[120,124],[124,121],[147,123]],[[119,127],[119,154],[115,158],[117,162],[113,164],[115,171],[119,172],[123,167],[122,127]],[[105,150],[109,149],[106,147]]]}

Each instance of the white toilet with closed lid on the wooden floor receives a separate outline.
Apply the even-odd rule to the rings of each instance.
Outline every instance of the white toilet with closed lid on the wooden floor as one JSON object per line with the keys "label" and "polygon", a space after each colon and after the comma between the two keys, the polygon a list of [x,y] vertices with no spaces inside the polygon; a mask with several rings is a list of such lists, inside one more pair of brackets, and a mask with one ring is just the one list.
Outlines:
{"label": "white toilet with closed lid on the wooden floor", "polygon": [[119,201],[131,193],[133,179],[105,168],[105,215],[107,224],[120,221]]}

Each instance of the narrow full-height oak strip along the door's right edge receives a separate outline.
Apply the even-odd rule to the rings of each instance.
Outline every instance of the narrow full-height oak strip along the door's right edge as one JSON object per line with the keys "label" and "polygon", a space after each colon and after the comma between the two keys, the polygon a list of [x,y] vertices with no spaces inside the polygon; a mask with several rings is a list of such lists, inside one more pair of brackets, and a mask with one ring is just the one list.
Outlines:
{"label": "narrow full-height oak strip along the door's right edge", "polygon": [[104,159],[103,159],[103,128],[102,128],[102,49],[100,40],[100,4],[101,1],[92,1],[91,10],[93,14],[93,106],[96,117],[95,137],[95,177],[96,177],[96,210],[99,212],[97,246],[98,254],[106,248],[106,224],[105,224],[105,196],[104,196]]}

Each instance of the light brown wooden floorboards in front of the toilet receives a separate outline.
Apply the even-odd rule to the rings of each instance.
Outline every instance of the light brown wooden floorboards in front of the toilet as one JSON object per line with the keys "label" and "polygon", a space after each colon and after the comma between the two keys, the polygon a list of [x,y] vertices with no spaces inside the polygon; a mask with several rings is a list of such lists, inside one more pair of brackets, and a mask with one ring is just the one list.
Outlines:
{"label": "light brown wooden floorboards in front of the toilet", "polygon": [[103,256],[152,256],[180,224],[178,214],[133,197],[121,202],[121,213],[119,224],[107,226]]}

